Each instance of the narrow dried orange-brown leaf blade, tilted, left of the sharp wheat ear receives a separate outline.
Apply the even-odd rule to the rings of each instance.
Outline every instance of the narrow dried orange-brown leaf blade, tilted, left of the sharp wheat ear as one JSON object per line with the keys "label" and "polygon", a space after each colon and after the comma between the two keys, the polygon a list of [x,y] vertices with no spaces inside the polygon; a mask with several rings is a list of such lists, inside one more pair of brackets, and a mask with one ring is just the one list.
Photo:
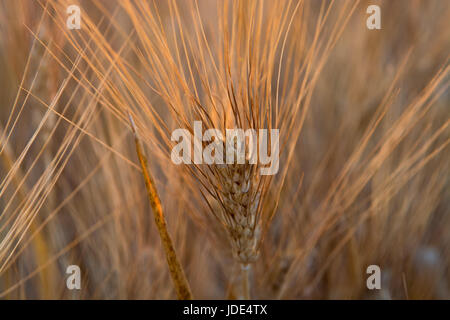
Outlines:
{"label": "narrow dried orange-brown leaf blade, tilted, left of the sharp wheat ear", "polygon": [[191,288],[189,287],[189,282],[184,274],[183,267],[178,260],[175,248],[172,243],[172,238],[170,237],[169,231],[167,230],[166,219],[164,218],[161,201],[158,196],[158,192],[155,187],[155,183],[148,169],[147,158],[144,154],[144,148],[137,134],[137,127],[130,113],[128,113],[128,118],[130,120],[131,129],[134,134],[134,141],[136,144],[136,153],[139,158],[139,162],[142,167],[142,175],[145,180],[145,187],[147,188],[148,198],[150,200],[150,205],[153,209],[153,215],[155,217],[156,227],[159,231],[159,236],[166,253],[167,264],[169,266],[170,276],[172,278],[175,290],[179,300],[192,300]]}

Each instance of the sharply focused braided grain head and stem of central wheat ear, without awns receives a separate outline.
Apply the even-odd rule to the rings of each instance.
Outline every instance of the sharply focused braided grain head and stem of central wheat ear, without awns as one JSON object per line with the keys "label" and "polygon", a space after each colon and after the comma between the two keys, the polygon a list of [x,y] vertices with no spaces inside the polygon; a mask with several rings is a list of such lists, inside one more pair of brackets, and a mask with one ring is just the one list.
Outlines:
{"label": "sharply focused braided grain head and stem of central wheat ear, without awns", "polygon": [[[225,150],[232,150],[233,159],[245,152],[243,164],[213,165],[211,179],[216,180],[216,200],[221,204],[216,216],[225,226],[234,259],[241,265],[242,297],[250,299],[249,273],[258,258],[261,240],[260,200],[263,193],[258,165],[251,164],[251,146],[221,141]],[[225,157],[223,162],[226,163]]]}

